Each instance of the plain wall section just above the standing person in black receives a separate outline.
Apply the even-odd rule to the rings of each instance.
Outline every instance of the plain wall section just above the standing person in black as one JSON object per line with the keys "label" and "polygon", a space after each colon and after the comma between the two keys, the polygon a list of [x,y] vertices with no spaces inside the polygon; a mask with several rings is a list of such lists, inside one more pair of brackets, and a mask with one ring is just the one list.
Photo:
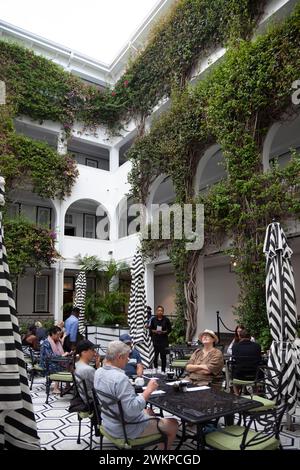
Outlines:
{"label": "plain wall section just above the standing person in black", "polygon": [[[175,313],[175,277],[173,274],[163,274],[154,278],[154,303],[162,305],[165,315]],[[154,312],[153,312],[154,313]]]}

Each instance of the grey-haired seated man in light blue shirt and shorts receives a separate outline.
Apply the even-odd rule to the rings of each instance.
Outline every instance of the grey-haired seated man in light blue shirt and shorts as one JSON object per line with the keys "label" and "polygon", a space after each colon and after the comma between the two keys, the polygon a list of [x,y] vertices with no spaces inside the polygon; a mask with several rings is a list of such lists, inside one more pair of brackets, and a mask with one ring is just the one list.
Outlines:
{"label": "grey-haired seated man in light blue shirt and shorts", "polygon": [[[103,367],[95,373],[94,387],[96,390],[108,393],[121,400],[124,418],[127,423],[137,423],[126,426],[129,439],[148,436],[157,433],[157,421],[150,419],[150,410],[145,410],[146,401],[157,389],[157,381],[151,379],[141,395],[136,395],[124,369],[128,362],[130,348],[122,341],[111,341],[106,351],[106,361]],[[114,411],[118,412],[117,405]],[[102,415],[102,424],[106,431],[116,438],[123,438],[121,422]],[[159,428],[168,436],[170,449],[177,432],[177,421],[173,418],[160,418]]]}

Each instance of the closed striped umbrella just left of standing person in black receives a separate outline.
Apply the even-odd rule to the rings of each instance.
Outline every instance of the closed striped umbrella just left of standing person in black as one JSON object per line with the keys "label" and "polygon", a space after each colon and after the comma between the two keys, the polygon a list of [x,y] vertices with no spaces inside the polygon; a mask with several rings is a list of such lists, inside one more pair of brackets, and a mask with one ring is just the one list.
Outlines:
{"label": "closed striped umbrella just left of standing person in black", "polygon": [[147,325],[147,306],[145,294],[145,266],[142,255],[135,253],[131,266],[131,287],[128,307],[128,325],[133,344],[139,351],[143,365],[149,367],[154,359],[154,349]]}

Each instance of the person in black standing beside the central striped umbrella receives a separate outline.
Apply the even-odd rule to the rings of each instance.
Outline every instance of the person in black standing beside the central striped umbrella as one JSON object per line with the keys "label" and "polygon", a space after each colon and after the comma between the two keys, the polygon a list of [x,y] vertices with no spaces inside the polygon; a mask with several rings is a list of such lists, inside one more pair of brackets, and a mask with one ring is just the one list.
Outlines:
{"label": "person in black standing beside the central striped umbrella", "polygon": [[161,371],[165,373],[167,364],[168,335],[172,330],[171,322],[164,316],[164,308],[158,305],[156,316],[151,319],[150,333],[154,346],[154,367],[157,369],[158,356],[161,358]]}

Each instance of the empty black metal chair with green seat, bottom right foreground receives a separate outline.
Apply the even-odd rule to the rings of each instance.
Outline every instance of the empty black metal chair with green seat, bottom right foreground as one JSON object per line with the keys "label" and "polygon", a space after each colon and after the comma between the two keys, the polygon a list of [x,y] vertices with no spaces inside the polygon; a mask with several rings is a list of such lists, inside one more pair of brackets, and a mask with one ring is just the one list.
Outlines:
{"label": "empty black metal chair with green seat, bottom right foreground", "polygon": [[215,450],[282,449],[279,432],[287,406],[284,403],[265,411],[251,411],[244,426],[225,426],[205,435],[205,445]]}

